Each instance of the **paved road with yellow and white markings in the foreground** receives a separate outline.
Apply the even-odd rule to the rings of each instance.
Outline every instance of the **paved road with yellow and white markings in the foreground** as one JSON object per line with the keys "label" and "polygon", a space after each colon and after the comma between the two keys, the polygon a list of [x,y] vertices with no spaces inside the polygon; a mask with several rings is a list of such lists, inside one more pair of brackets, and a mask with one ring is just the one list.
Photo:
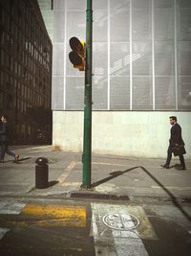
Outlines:
{"label": "paved road with yellow and white markings in the foreground", "polygon": [[188,256],[191,205],[0,198],[3,256]]}

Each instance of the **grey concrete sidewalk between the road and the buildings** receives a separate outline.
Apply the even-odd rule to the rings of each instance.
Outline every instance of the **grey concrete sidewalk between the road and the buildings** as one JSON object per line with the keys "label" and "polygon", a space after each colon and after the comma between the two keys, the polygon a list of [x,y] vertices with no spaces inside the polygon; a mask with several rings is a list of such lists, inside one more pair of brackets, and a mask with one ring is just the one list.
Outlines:
{"label": "grey concrete sidewalk between the road and the buildings", "polygon": [[[160,168],[165,159],[96,155],[92,157],[92,188],[82,190],[81,153],[53,151],[52,146],[12,147],[20,154],[17,164],[6,155],[0,164],[0,196],[111,199],[191,200],[191,160],[179,170],[179,158],[170,169]],[[165,152],[164,152],[165,154]],[[49,186],[35,188],[35,159],[49,161]]]}

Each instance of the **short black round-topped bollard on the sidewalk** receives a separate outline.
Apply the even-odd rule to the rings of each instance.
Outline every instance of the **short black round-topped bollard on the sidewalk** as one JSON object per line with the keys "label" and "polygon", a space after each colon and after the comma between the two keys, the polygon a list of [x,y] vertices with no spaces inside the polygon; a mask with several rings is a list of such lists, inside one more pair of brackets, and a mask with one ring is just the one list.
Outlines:
{"label": "short black round-topped bollard on the sidewalk", "polygon": [[35,163],[35,188],[45,189],[48,187],[48,159],[46,157],[38,157]]}

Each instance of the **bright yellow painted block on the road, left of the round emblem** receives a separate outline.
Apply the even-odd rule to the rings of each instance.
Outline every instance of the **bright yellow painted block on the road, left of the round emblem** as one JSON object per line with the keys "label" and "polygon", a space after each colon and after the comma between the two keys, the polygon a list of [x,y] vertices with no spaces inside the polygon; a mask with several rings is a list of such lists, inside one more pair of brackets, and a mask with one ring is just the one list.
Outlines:
{"label": "bright yellow painted block on the road, left of the round emblem", "polygon": [[86,207],[83,206],[28,204],[21,215],[27,215],[28,219],[18,223],[20,225],[86,226]]}

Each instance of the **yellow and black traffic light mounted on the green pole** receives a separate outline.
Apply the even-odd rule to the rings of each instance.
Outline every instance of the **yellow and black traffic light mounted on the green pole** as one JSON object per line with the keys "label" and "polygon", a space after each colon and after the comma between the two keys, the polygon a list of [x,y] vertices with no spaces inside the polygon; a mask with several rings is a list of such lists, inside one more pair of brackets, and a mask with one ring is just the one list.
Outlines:
{"label": "yellow and black traffic light mounted on the green pole", "polygon": [[73,63],[74,68],[79,71],[85,70],[85,42],[80,41],[77,37],[71,37],[69,40],[71,49],[69,59]]}

